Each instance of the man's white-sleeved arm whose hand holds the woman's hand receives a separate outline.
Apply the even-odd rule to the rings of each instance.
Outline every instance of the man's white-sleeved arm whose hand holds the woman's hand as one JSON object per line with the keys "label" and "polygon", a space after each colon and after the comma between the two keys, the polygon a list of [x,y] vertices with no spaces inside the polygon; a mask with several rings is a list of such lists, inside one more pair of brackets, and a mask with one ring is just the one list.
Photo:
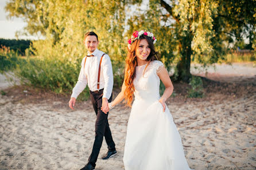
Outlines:
{"label": "man's white-sleeved arm whose hand holds the woman's hand", "polygon": [[113,70],[110,61],[110,57],[106,54],[102,58],[103,60],[103,75],[104,75],[104,90],[102,96],[102,108],[103,110],[108,110],[108,99],[110,98],[113,90]]}

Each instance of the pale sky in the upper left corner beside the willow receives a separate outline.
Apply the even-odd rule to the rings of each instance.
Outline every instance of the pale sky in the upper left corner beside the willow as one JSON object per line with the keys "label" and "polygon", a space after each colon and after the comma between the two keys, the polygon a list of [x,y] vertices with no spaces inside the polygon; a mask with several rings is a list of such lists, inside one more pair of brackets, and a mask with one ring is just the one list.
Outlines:
{"label": "pale sky in the upper left corner beside the willow", "polygon": [[[7,19],[7,14],[5,11],[5,5],[7,0],[0,0],[0,38],[5,39],[16,39],[15,32],[22,31],[26,26],[26,22],[22,18],[12,18]],[[19,39],[38,39],[34,36],[19,36]]]}

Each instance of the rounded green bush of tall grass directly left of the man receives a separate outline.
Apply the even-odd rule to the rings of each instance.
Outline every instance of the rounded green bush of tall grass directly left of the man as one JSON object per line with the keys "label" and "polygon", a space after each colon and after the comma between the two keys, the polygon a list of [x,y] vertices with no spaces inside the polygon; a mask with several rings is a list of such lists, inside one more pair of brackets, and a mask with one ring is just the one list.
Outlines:
{"label": "rounded green bush of tall grass directly left of the man", "polygon": [[[27,57],[26,64],[18,64],[15,71],[25,84],[51,89],[56,93],[71,94],[80,72],[80,61],[57,57]],[[88,99],[88,88],[80,100]]]}

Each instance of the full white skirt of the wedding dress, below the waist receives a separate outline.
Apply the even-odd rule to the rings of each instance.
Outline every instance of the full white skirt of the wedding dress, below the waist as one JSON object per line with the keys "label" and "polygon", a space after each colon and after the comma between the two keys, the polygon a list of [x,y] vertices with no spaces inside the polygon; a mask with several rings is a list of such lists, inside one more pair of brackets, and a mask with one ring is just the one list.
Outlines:
{"label": "full white skirt of the wedding dress, below the waist", "polygon": [[188,170],[172,114],[158,100],[134,100],[123,163],[126,170]]}

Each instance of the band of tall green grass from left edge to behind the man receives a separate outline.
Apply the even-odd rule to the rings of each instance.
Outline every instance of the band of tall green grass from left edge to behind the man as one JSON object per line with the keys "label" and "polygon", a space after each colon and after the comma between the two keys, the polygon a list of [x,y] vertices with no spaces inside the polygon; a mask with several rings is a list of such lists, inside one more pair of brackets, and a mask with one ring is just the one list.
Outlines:
{"label": "band of tall green grass from left edge to behind the man", "polygon": [[[67,57],[21,57],[18,53],[3,47],[0,50],[1,73],[12,71],[20,78],[22,84],[50,89],[55,93],[70,95],[77,82],[82,58]],[[115,87],[121,87],[123,81],[123,64],[113,62]],[[87,88],[78,100],[89,98]]]}

